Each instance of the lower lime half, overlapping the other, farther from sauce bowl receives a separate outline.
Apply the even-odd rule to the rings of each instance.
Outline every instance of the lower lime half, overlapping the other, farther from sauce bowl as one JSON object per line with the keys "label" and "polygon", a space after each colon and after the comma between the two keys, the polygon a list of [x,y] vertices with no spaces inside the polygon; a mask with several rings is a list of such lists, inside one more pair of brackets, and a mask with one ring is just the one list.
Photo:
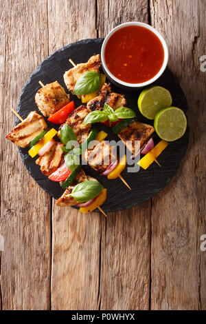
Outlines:
{"label": "lower lime half, overlapping the other, farther from sauce bowl", "polygon": [[180,108],[165,108],[155,117],[157,135],[165,141],[171,142],[180,139],[187,128],[187,118]]}

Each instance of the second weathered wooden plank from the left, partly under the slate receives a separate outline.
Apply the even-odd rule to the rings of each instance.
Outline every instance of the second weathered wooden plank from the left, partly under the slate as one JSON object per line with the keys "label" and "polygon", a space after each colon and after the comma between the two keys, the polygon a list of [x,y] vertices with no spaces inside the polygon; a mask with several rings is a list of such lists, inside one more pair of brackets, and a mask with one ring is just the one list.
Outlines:
{"label": "second weathered wooden plank from the left, partly under the slate", "polygon": [[[49,52],[72,41],[96,37],[95,1],[49,0],[48,13]],[[57,207],[53,201],[53,310],[98,308],[101,218]]]}

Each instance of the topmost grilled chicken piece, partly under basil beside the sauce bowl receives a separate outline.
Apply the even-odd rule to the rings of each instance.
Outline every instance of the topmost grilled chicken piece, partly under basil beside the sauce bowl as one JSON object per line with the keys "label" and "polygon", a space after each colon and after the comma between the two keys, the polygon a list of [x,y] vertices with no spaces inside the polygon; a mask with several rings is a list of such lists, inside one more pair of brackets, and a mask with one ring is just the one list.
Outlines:
{"label": "topmost grilled chicken piece, partly under basil beside the sauce bowl", "polygon": [[74,68],[71,68],[69,71],[66,71],[64,74],[65,84],[67,89],[73,93],[73,89],[78,81],[79,77],[84,72],[87,71],[96,71],[99,72],[101,66],[100,54],[93,55],[87,63],[77,64]]}

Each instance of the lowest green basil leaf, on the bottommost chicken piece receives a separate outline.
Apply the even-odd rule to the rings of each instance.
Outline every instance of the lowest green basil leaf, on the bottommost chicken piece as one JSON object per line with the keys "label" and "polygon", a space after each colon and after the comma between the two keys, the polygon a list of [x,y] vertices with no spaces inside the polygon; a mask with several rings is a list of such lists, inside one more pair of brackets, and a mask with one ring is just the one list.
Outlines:
{"label": "lowest green basil leaf, on the bottommost chicken piece", "polygon": [[102,190],[103,185],[101,185],[101,183],[99,183],[98,181],[89,180],[78,183],[78,185],[73,188],[71,196],[73,196],[76,201],[85,203],[86,201],[89,201],[98,196],[98,194],[100,194]]}

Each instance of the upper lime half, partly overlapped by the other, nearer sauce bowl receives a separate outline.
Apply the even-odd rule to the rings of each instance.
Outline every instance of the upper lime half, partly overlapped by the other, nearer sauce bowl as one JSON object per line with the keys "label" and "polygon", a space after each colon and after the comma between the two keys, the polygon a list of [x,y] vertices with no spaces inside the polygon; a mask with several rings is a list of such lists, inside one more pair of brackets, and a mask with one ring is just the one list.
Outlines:
{"label": "upper lime half, partly overlapped by the other, nearer sauce bowl", "polygon": [[137,104],[144,117],[155,119],[157,112],[172,105],[172,96],[167,89],[155,85],[141,92]]}

